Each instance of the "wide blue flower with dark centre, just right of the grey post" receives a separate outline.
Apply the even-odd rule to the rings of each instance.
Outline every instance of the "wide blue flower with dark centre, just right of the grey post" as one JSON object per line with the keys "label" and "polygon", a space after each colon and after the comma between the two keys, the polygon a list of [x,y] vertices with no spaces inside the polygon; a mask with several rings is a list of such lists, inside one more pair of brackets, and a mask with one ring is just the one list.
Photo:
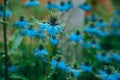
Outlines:
{"label": "wide blue flower with dark centre, just right of the grey post", "polygon": [[91,24],[90,26],[85,27],[83,32],[89,33],[91,35],[98,34],[99,29],[94,24]]}

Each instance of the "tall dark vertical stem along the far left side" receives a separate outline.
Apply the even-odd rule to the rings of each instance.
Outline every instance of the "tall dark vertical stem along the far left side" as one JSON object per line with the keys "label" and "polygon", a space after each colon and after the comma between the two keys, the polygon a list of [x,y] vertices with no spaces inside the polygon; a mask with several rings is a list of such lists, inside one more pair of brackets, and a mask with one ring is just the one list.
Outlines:
{"label": "tall dark vertical stem along the far left side", "polygon": [[7,50],[7,24],[6,24],[6,3],[7,0],[4,0],[3,6],[3,33],[4,33],[4,51],[5,51],[5,80],[8,80],[8,50]]}

